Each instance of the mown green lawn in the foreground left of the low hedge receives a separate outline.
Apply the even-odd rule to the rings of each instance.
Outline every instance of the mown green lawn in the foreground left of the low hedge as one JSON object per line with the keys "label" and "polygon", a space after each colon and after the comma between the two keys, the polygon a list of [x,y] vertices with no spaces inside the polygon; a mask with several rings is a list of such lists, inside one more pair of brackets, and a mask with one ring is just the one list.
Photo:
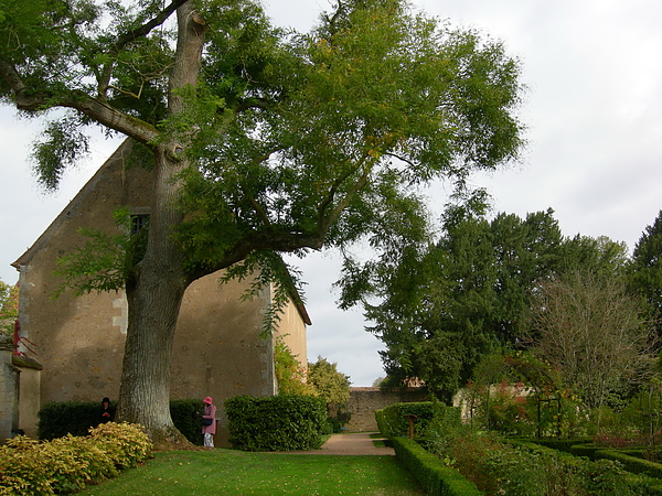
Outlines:
{"label": "mown green lawn in the foreground left of the low hedge", "polygon": [[423,495],[393,456],[296,455],[233,450],[157,453],[81,495]]}

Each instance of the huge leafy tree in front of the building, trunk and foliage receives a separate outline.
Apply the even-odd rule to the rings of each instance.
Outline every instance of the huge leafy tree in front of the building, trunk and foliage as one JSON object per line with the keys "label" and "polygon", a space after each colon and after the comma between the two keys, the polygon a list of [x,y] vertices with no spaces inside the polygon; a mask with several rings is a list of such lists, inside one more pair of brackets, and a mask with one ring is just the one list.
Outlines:
{"label": "huge leafy tree in front of the building, trunk and foliage", "polygon": [[413,186],[516,158],[517,78],[500,43],[401,0],[340,0],[307,35],[252,0],[2,2],[0,96],[31,116],[63,109],[35,149],[42,182],[85,151],[85,125],[126,134],[154,168],[146,242],[76,283],[126,289],[118,417],[180,439],[170,354],[195,279],[266,283],[285,278],[281,252],[388,247],[421,224]]}

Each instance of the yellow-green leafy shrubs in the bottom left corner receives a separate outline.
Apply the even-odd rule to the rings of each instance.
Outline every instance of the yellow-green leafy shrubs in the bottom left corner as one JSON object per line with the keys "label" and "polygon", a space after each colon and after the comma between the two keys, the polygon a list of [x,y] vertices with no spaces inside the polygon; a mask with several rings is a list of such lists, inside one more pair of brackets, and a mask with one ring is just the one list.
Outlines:
{"label": "yellow-green leafy shrubs in the bottom left corner", "polygon": [[0,495],[74,493],[135,466],[151,449],[147,433],[129,423],[104,423],[85,438],[51,442],[20,435],[0,448]]}

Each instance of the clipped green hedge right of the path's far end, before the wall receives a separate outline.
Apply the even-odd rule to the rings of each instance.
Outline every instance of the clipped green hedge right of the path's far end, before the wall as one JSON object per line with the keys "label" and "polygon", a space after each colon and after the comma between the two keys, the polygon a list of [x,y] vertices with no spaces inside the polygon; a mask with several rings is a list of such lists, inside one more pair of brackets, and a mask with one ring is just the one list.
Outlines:
{"label": "clipped green hedge right of the path's far end, before the wall", "polygon": [[387,439],[408,436],[409,421],[405,418],[408,414],[417,417],[414,421],[414,436],[421,436],[425,433],[435,414],[437,414],[436,420],[445,423],[460,423],[460,409],[456,407],[435,405],[433,401],[395,403],[375,411],[375,419],[382,435]]}

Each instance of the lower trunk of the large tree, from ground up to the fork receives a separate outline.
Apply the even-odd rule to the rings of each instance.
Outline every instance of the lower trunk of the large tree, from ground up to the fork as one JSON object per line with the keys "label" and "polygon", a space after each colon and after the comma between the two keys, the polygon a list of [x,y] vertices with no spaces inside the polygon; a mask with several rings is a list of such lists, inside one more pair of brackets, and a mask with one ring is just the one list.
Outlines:
{"label": "lower trunk of the large tree, from ground up to the fork", "polygon": [[146,427],[157,445],[178,445],[184,440],[170,417],[170,363],[182,298],[189,280],[182,254],[172,239],[181,222],[174,205],[180,191],[174,175],[183,163],[157,155],[148,245],[136,280],[127,287],[129,322],[118,419]]}

